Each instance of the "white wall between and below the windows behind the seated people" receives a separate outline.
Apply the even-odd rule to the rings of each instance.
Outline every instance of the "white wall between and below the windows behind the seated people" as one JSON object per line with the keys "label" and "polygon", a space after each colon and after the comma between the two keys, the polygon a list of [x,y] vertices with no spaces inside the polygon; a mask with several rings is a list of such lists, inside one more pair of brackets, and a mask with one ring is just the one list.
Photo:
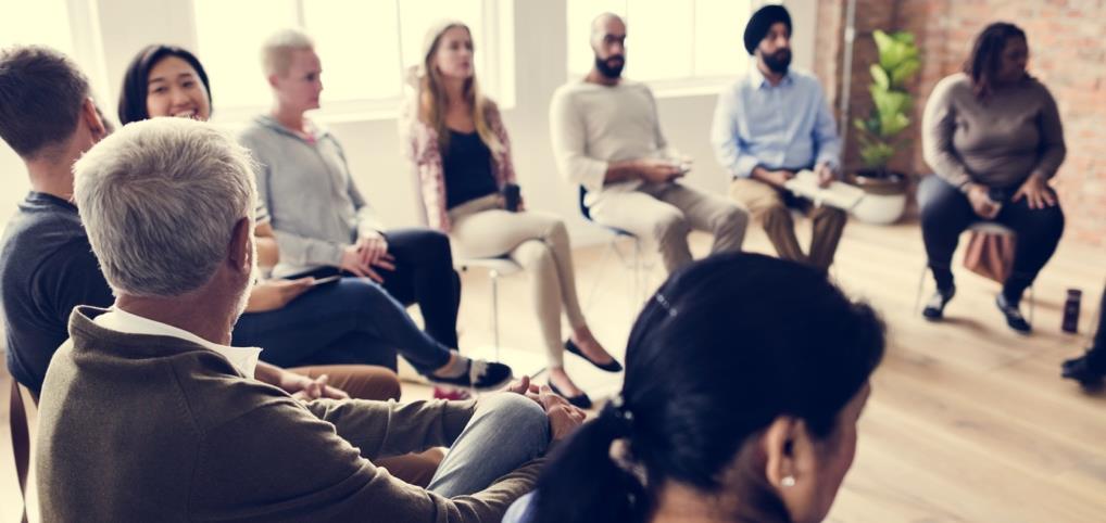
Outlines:
{"label": "white wall between and below the windows behind the seated people", "polygon": [[[816,2],[792,0],[785,3],[792,11],[796,28],[794,63],[810,69],[814,55]],[[196,48],[192,14],[188,2],[177,0],[100,0],[97,6],[96,18],[104,35],[104,60],[102,69],[92,73],[106,77],[109,92],[101,93],[100,98],[105,112],[114,115],[123,72],[138,49],[155,42]],[[564,182],[557,175],[549,136],[550,98],[553,91],[567,81],[565,12],[564,0],[517,0],[517,104],[504,113],[504,119],[511,133],[515,169],[528,207],[565,217],[574,240],[585,243],[603,238],[603,233],[580,218],[576,187]],[[734,31],[742,29],[735,27]],[[633,31],[633,28],[629,30]],[[257,45],[253,42],[244,44]],[[325,62],[326,56],[322,59]],[[633,50],[627,60],[634,60]],[[90,69],[98,65],[80,57],[79,61]],[[668,140],[696,159],[695,169],[686,182],[724,193],[726,176],[716,164],[708,142],[716,95],[710,92],[681,96],[666,96],[662,92],[657,94],[660,121]],[[216,95],[218,97],[218,93]],[[419,224],[416,186],[399,155],[395,119],[331,122],[328,125],[345,146],[362,192],[387,223],[390,227]],[[0,189],[2,226],[27,190],[22,164],[7,146],[0,146]]]}

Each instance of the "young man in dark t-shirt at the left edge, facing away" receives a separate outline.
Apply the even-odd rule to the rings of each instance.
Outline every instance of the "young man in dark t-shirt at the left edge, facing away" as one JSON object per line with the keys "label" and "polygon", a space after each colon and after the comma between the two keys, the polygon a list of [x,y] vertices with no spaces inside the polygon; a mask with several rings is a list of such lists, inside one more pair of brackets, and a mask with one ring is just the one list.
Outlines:
{"label": "young man in dark t-shirt at the left edge, facing away", "polygon": [[8,369],[35,396],[69,337],[73,307],[114,301],[70,203],[73,163],[109,133],[104,122],[87,80],[64,55],[36,46],[0,52],[0,138],[31,180],[0,245],[0,297]]}

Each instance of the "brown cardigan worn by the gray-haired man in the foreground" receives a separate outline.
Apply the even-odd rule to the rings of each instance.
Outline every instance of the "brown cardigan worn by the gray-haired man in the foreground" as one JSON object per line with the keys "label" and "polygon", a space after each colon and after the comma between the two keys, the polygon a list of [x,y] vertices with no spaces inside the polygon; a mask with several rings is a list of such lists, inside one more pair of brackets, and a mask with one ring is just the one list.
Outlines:
{"label": "brown cardigan worn by the gray-haired man in the foreground", "polygon": [[39,406],[42,521],[498,522],[541,460],[446,499],[369,460],[455,440],[471,401],[315,400],[195,343],[123,334],[77,307]]}

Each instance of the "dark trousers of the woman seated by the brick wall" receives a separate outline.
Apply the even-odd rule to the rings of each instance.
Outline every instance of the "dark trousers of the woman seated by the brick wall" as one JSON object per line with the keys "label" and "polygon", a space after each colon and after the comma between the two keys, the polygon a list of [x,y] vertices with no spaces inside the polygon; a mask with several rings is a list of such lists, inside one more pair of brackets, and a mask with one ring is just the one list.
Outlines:
{"label": "dark trousers of the woman seated by the brick wall", "polygon": [[[1006,193],[1005,201],[993,220],[1016,234],[1013,272],[1002,287],[1011,303],[1021,300],[1022,293],[1056,252],[1060,237],[1064,234],[1064,211],[1058,203],[1044,209],[1030,209],[1025,198],[1010,200],[1016,189],[1003,191]],[[929,269],[938,289],[948,290],[952,286],[950,268],[960,233],[983,219],[972,210],[968,195],[936,175],[924,178],[918,186],[918,206],[921,208],[921,236],[926,242]]]}

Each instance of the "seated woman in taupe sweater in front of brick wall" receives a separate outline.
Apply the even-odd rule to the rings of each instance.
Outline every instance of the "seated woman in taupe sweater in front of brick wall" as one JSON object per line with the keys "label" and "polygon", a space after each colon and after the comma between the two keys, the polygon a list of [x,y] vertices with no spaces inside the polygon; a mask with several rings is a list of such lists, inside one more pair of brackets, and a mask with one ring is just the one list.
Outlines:
{"label": "seated woman in taupe sweater in front of brick wall", "polygon": [[918,205],[937,283],[927,320],[941,320],[956,294],[950,266],[960,233],[987,220],[1016,234],[1013,271],[995,304],[1011,328],[1032,328],[1019,303],[1064,233],[1048,180],[1066,149],[1056,101],[1026,73],[1027,62],[1025,32],[992,23],[975,38],[963,72],[940,81],[926,104],[922,153],[936,176],[921,180]]}

